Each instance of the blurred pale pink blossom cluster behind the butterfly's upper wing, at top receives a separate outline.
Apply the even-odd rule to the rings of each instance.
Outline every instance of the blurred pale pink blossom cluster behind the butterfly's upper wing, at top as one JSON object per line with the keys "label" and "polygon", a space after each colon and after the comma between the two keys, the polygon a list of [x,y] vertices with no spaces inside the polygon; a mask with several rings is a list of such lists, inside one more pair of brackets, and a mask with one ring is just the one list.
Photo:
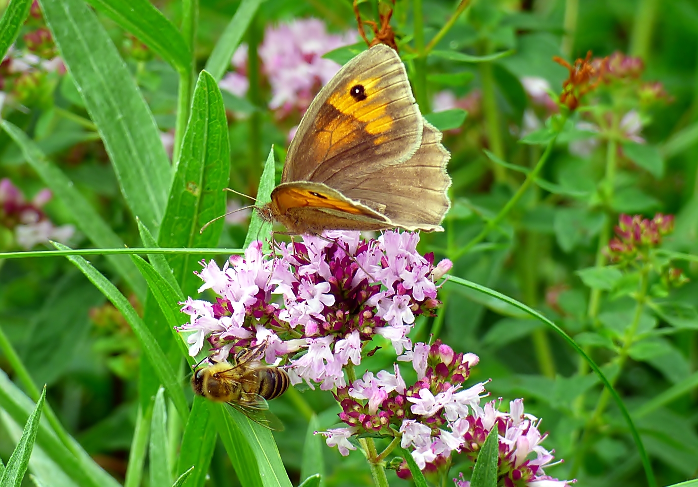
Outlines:
{"label": "blurred pale pink blossom cluster behind the butterfly's upper wing, at top", "polygon": [[[304,112],[315,93],[339,70],[340,65],[322,55],[356,42],[353,31],[339,34],[327,32],[318,19],[299,19],[277,26],[267,26],[259,47],[262,72],[272,87],[269,108],[285,116],[294,109]],[[235,71],[221,80],[221,88],[244,96],[249,88],[246,76],[247,46],[241,45],[232,56]]]}

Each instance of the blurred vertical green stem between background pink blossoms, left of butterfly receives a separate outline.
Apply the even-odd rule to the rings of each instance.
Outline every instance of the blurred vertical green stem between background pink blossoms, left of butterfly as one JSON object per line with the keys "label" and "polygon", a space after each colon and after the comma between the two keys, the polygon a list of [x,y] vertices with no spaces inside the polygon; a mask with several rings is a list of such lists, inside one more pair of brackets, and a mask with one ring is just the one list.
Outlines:
{"label": "blurred vertical green stem between background pink blossoms, left of butterfly", "polygon": [[[260,62],[259,46],[262,38],[261,13],[255,13],[255,17],[250,22],[247,29],[247,77],[250,81],[250,88],[247,93],[248,100],[257,108],[262,107],[262,94],[260,93]],[[262,112],[255,110],[249,118],[250,130],[250,171],[248,171],[248,192],[256,194],[257,185],[262,175]]]}

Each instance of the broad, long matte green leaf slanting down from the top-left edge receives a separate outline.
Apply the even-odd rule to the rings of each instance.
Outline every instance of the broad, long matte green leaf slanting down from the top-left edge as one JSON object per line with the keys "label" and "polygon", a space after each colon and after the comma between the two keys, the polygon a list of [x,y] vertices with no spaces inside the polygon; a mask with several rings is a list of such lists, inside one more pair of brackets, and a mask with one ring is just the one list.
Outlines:
{"label": "broad, long matte green leaf slanting down from the top-left edge", "polygon": [[134,216],[155,234],[172,170],[154,118],[102,24],[82,0],[41,0]]}

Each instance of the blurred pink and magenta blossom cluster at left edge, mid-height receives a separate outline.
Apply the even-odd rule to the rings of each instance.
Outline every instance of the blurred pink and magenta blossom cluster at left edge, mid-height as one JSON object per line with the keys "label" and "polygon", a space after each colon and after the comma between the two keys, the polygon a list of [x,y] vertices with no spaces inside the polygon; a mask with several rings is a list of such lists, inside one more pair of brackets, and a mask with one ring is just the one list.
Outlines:
{"label": "blurred pink and magenta blossom cluster at left edge, mid-height", "polygon": [[14,232],[20,247],[31,249],[49,240],[67,242],[75,233],[73,225],[55,226],[41,210],[51,197],[50,190],[41,190],[27,201],[12,181],[0,180],[0,224]]}

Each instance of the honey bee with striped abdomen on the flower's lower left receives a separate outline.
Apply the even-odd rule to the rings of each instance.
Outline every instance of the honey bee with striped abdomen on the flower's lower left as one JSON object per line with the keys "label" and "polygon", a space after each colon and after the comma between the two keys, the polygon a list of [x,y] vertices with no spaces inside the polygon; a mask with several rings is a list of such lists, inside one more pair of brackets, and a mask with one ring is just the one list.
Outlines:
{"label": "honey bee with striped abdomen on the flower's lower left", "polygon": [[253,422],[269,429],[283,429],[281,421],[271,412],[267,399],[281,396],[290,380],[288,374],[260,362],[266,343],[240,350],[232,364],[218,362],[196,369],[191,387],[196,394],[211,401],[228,403]]}

